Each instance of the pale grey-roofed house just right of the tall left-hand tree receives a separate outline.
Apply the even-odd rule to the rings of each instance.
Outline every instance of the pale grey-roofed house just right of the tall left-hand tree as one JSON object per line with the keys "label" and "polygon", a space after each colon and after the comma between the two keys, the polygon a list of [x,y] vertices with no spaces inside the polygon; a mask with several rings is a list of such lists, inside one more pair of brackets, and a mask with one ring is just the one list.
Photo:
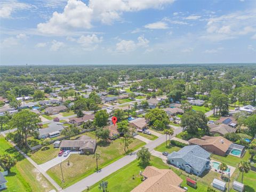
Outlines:
{"label": "pale grey-roofed house just right of the tall left-hand tree", "polygon": [[39,129],[38,139],[58,137],[63,129],[63,123],[51,122],[48,127]]}

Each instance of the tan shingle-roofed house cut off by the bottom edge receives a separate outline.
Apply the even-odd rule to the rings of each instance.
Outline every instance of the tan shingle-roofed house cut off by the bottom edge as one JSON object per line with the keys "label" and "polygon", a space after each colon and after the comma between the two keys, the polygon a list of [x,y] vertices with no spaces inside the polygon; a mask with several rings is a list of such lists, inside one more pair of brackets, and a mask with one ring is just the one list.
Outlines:
{"label": "tan shingle-roofed house cut off by the bottom edge", "polygon": [[170,169],[147,166],[141,173],[144,180],[131,192],[185,192],[181,188],[182,179]]}

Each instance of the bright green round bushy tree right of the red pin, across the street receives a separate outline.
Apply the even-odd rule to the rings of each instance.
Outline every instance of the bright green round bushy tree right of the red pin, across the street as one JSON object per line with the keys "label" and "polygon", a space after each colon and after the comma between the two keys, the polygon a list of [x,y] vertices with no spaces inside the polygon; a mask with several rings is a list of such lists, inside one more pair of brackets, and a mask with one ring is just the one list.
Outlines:
{"label": "bright green round bushy tree right of the red pin, across the street", "polygon": [[157,130],[166,129],[170,123],[169,117],[163,109],[151,109],[146,115],[145,119],[149,126],[155,127]]}

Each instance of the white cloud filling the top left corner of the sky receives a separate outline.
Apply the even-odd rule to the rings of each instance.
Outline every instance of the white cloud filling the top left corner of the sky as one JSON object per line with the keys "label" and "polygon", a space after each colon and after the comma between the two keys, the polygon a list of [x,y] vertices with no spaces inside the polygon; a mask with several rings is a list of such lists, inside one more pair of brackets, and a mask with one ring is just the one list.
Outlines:
{"label": "white cloud filling the top left corner of the sky", "polygon": [[21,10],[27,10],[31,5],[16,1],[2,1],[0,3],[0,18],[9,19],[11,14]]}

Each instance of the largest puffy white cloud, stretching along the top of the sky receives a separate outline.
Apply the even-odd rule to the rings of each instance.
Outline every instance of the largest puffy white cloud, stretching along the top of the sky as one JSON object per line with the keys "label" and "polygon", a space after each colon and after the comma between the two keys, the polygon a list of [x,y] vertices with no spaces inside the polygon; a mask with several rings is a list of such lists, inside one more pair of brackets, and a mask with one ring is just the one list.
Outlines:
{"label": "largest puffy white cloud, stretching along the top of the sky", "polygon": [[174,0],[90,0],[88,5],[82,1],[69,0],[62,13],[54,12],[51,19],[39,23],[37,29],[44,34],[63,34],[77,28],[90,29],[92,21],[110,25],[120,20],[123,12],[134,12],[144,9],[162,9],[165,4]]}

